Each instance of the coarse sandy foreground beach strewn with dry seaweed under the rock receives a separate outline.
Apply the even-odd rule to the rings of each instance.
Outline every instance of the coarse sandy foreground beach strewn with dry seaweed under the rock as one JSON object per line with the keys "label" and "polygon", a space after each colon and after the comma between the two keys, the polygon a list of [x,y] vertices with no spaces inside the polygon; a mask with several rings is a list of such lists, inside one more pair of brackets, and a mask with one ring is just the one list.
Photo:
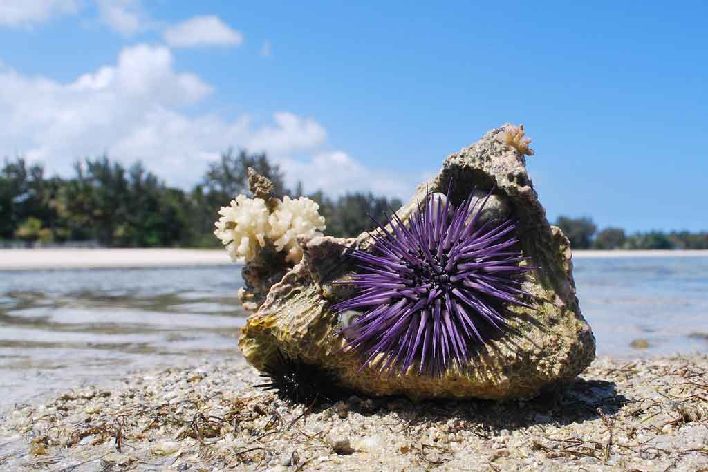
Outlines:
{"label": "coarse sandy foreground beach strewn with dry seaweed under the rock", "polygon": [[600,358],[529,401],[290,405],[241,358],[139,372],[0,418],[13,471],[707,471],[708,358]]}

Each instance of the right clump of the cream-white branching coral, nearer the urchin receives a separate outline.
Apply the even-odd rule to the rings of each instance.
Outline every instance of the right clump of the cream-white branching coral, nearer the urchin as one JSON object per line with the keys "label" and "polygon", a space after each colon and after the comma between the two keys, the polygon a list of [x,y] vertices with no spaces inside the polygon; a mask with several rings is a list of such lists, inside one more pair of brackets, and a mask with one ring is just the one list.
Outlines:
{"label": "right clump of the cream-white branching coral, nearer the urchin", "polygon": [[270,214],[268,222],[268,238],[273,241],[276,250],[287,251],[286,260],[292,263],[298,263],[302,258],[297,236],[312,239],[322,236],[319,231],[326,229],[324,217],[319,214],[319,205],[307,197],[299,197],[297,200],[283,197],[280,205]]}

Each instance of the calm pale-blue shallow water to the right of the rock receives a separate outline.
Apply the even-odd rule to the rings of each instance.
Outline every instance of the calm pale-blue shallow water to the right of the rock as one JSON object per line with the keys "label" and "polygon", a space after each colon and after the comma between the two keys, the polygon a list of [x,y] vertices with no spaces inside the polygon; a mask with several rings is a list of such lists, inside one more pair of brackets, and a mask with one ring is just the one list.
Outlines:
{"label": "calm pale-blue shallow water to the right of the rock", "polygon": [[[573,260],[583,316],[598,354],[708,352],[708,257]],[[649,347],[636,349],[633,340]]]}

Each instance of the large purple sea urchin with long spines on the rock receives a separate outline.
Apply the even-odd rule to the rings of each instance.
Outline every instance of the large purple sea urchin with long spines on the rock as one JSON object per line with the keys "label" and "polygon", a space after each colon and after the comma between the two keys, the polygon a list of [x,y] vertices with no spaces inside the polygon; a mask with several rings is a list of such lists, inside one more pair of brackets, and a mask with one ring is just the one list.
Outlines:
{"label": "large purple sea urchin with long spines on the rock", "polygon": [[479,224],[490,196],[470,195],[457,209],[428,196],[407,225],[395,213],[388,229],[377,222],[371,253],[349,253],[359,272],[343,283],[358,292],[333,309],[362,311],[340,331],[345,349],[364,351],[361,369],[382,354],[380,372],[403,374],[418,361],[418,374],[441,376],[506,326],[505,304],[530,307],[518,278],[536,267],[519,265],[515,221]]}

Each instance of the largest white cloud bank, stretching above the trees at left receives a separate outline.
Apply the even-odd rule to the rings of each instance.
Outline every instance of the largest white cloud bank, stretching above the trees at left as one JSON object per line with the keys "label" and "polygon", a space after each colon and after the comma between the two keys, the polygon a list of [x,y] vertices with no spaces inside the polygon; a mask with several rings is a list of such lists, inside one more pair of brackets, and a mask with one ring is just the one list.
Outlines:
{"label": "largest white cloud bank, stretching above the trees at left", "polygon": [[66,175],[76,159],[106,152],[125,164],[141,160],[171,185],[188,186],[207,161],[234,146],[267,152],[288,185],[302,180],[307,191],[370,190],[406,199],[414,189],[417,179],[324,151],[326,129],[312,118],[280,111],[261,125],[248,115],[189,113],[210,93],[198,76],[175,71],[164,46],[128,47],[116,64],[68,83],[0,67],[0,156],[24,154]]}

